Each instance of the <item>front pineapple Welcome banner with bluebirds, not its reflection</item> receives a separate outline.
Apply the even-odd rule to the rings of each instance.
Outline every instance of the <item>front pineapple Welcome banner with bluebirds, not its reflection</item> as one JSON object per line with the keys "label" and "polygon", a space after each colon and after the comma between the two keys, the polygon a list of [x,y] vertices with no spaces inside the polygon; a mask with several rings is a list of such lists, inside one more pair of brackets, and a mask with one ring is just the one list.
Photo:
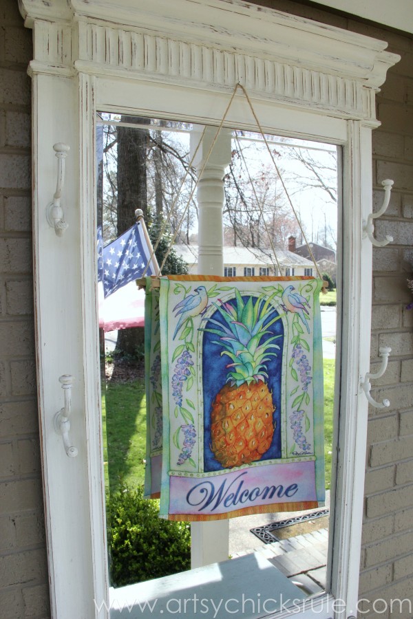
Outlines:
{"label": "front pineapple Welcome banner with bluebirds, not its reflection", "polygon": [[160,516],[325,499],[319,292],[307,277],[160,279]]}

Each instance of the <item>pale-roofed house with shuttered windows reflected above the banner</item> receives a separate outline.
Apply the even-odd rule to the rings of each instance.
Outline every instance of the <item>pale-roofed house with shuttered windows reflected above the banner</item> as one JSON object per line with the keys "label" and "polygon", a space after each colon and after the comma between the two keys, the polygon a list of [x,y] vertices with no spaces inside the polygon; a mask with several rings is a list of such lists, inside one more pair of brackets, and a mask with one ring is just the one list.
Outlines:
{"label": "pale-roofed house with shuttered windows reflected above the banner", "polygon": [[[175,245],[176,253],[187,263],[189,273],[197,273],[198,245]],[[253,247],[224,247],[224,276],[251,277],[257,275],[279,275],[277,261],[270,250]],[[314,263],[287,250],[277,249],[277,260],[282,276],[315,274]]]}

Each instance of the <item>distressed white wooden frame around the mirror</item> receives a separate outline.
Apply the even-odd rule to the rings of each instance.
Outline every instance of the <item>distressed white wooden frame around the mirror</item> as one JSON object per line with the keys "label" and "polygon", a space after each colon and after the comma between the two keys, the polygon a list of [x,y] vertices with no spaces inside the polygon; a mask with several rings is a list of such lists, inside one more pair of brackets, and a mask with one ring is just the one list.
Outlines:
{"label": "distressed white wooden frame around the mirror", "polygon": [[[342,146],[343,313],[328,592],[297,616],[357,615],[370,367],[374,94],[398,56],[386,43],[239,0],[19,0],[33,28],[33,200],[37,367],[52,616],[105,616],[108,600],[96,302],[96,110],[218,124],[237,82],[264,129]],[[256,130],[242,96],[228,127]],[[56,237],[53,144],[66,142],[69,224]],[[337,364],[340,367],[340,364]],[[59,376],[76,377],[68,458],[53,418]],[[337,389],[338,391],[338,389]],[[322,608],[321,608],[322,607]],[[320,612],[321,609],[321,612]],[[290,613],[278,613],[277,617]],[[343,616],[342,614],[337,616]]]}

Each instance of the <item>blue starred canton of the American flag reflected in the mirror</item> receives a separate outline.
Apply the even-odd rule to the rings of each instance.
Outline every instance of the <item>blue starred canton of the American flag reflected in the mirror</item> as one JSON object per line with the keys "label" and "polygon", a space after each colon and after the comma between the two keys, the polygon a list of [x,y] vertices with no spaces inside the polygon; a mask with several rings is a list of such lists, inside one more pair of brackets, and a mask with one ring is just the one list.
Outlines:
{"label": "blue starred canton of the American flag reflected in the mirror", "polygon": [[[105,297],[129,281],[142,277],[152,252],[140,221],[106,247],[103,247],[102,229],[98,228],[97,245],[98,280],[103,282]],[[151,261],[146,275],[155,274],[155,265]]]}

